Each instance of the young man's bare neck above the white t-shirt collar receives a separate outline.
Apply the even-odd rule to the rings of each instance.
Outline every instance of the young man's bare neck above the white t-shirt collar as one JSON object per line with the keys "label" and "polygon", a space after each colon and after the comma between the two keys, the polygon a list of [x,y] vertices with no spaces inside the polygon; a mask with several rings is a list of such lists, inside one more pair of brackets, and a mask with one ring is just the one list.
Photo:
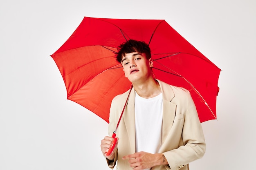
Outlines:
{"label": "young man's bare neck above the white t-shirt collar", "polygon": [[161,93],[159,83],[155,79],[149,79],[141,84],[132,84],[136,93],[143,98],[152,98]]}

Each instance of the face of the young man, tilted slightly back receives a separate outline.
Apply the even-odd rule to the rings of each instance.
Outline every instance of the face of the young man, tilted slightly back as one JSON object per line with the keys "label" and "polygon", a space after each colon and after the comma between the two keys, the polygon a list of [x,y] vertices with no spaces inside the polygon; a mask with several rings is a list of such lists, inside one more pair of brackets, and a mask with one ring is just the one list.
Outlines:
{"label": "face of the young man, tilted slightly back", "polygon": [[152,76],[153,62],[151,58],[149,60],[146,58],[145,53],[127,53],[122,57],[121,64],[125,77],[132,83],[144,81]]}

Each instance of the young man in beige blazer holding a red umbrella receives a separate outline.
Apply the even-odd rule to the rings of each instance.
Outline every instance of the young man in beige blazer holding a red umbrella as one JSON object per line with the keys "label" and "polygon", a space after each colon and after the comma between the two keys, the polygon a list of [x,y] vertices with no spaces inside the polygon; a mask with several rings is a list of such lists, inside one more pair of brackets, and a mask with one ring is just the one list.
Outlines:
{"label": "young man in beige blazer holding a red umbrella", "polygon": [[[206,147],[189,91],[154,79],[153,60],[145,42],[121,44],[117,61],[133,88],[116,132],[118,144],[108,157],[105,153],[113,138],[106,136],[101,141],[109,167],[117,162],[117,170],[189,170],[188,163],[201,158]],[[110,136],[128,93],[112,100]]]}

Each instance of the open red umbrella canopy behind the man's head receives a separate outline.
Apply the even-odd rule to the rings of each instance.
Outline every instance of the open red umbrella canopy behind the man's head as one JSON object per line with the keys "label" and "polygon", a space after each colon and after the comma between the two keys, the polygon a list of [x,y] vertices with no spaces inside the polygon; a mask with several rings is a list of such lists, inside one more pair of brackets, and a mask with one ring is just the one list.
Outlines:
{"label": "open red umbrella canopy behind the man's head", "polygon": [[70,99],[108,122],[112,99],[131,83],[115,60],[117,46],[129,40],[149,44],[156,79],[188,89],[201,122],[216,119],[220,69],[165,20],[85,17],[52,58]]}

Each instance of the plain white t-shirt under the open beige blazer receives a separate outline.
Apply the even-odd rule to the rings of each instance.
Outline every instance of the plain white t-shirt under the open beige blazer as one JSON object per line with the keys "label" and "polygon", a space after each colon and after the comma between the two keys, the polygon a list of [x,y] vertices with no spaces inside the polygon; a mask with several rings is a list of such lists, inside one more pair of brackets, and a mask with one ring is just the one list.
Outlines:
{"label": "plain white t-shirt under the open beige blazer", "polygon": [[135,92],[136,152],[158,152],[162,143],[162,119],[162,93],[145,99]]}

